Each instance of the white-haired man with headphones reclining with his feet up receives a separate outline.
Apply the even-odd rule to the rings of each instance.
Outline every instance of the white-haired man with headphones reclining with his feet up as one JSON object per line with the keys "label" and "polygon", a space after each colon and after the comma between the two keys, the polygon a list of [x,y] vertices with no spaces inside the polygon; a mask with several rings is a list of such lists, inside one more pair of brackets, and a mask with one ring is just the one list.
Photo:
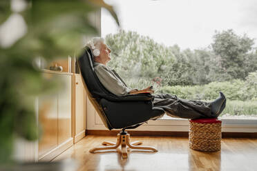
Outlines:
{"label": "white-haired man with headphones reclining with his feet up", "polygon": [[[117,96],[124,96],[127,94],[138,94],[142,92],[150,92],[151,86],[142,90],[131,89],[126,86],[122,78],[106,64],[111,60],[111,50],[104,43],[101,37],[95,37],[91,43],[88,43],[94,55],[93,66],[95,74],[102,85],[110,92]],[[198,118],[215,118],[224,110],[226,105],[225,95],[220,92],[220,97],[211,103],[204,101],[192,101],[186,99],[179,99],[171,94],[155,94],[153,105],[163,108],[171,117],[180,117],[184,119],[198,119]]]}

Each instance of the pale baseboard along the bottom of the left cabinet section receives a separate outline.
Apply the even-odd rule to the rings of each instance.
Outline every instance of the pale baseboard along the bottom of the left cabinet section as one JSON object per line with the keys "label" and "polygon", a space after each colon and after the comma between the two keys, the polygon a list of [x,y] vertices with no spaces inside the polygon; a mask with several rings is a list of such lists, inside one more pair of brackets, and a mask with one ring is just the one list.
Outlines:
{"label": "pale baseboard along the bottom of the left cabinet section", "polygon": [[73,138],[68,139],[64,143],[61,143],[53,150],[50,150],[50,152],[47,152],[43,156],[39,157],[39,161],[51,161],[55,159],[55,157],[59,156],[62,152],[67,150],[73,145]]}

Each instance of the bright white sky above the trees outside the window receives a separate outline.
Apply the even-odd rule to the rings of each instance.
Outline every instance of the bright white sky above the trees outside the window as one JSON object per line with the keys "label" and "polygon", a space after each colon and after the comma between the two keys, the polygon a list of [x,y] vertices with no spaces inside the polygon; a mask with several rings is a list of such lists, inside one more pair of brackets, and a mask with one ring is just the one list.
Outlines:
{"label": "bright white sky above the trees outside the window", "polygon": [[[105,1],[115,7],[122,29],[149,36],[165,46],[207,48],[215,30],[228,29],[257,39],[256,0]],[[102,37],[117,30],[111,15],[102,10]]]}

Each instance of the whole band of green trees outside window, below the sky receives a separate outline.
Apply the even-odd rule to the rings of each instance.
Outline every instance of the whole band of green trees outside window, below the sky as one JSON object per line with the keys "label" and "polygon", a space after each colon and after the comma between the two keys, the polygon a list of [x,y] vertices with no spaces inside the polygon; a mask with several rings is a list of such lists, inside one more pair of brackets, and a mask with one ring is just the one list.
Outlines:
{"label": "whole band of green trees outside window, below the sky", "polygon": [[162,79],[162,86],[245,80],[249,72],[257,70],[254,40],[247,35],[240,37],[232,30],[216,32],[209,48],[200,50],[164,46],[124,30],[108,34],[106,43],[112,50],[109,65],[132,86],[138,79],[151,83],[155,77]]}

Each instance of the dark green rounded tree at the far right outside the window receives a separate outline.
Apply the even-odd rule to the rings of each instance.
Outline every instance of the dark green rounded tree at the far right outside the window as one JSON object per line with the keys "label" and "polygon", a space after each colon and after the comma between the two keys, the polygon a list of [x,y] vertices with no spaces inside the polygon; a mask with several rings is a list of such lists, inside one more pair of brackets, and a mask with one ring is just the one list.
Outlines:
{"label": "dark green rounded tree at the far right outside the window", "polygon": [[216,32],[211,44],[216,54],[213,61],[213,64],[216,63],[214,72],[219,73],[222,79],[245,79],[251,70],[247,66],[249,58],[254,57],[251,55],[253,45],[254,39],[250,39],[246,34],[238,36],[233,30]]}

